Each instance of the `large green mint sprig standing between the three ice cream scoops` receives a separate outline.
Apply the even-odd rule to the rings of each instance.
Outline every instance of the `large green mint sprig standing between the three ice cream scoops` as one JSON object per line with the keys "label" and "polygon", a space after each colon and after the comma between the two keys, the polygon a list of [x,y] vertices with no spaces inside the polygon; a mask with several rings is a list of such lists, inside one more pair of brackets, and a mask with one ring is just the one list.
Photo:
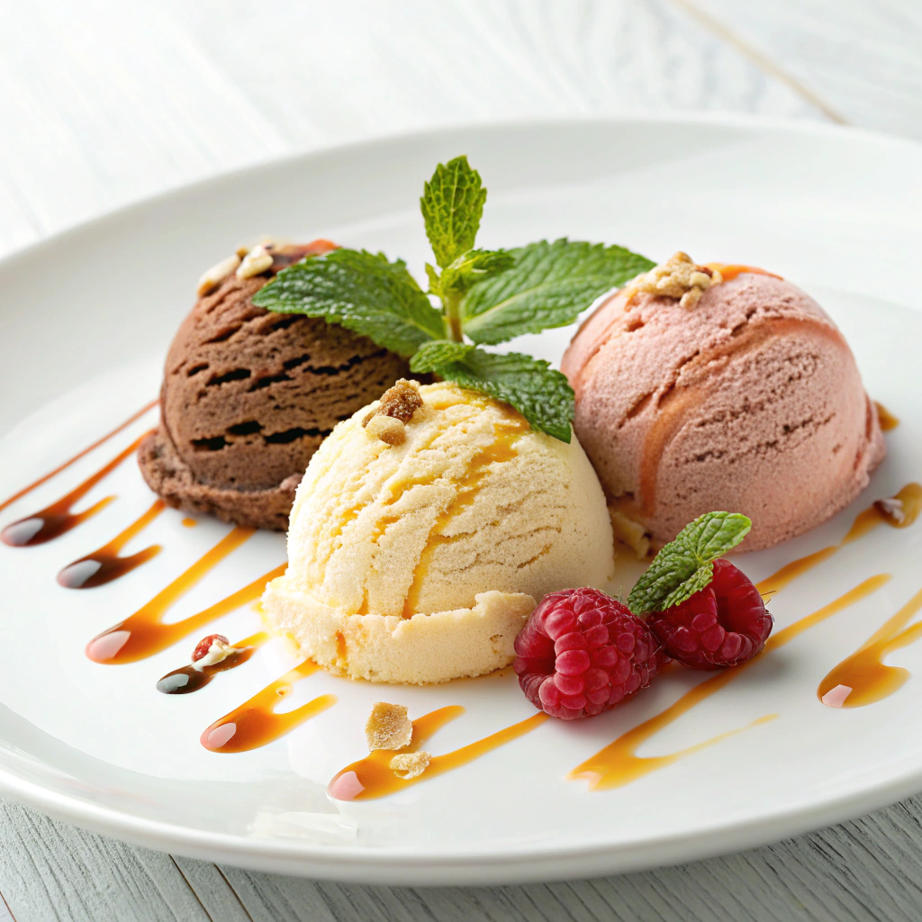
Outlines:
{"label": "large green mint sprig standing between the three ice cream scoops", "polygon": [[[339,249],[283,269],[254,296],[259,307],[323,317],[462,387],[510,403],[539,431],[570,441],[573,390],[546,361],[476,343],[572,323],[606,291],[653,266],[620,246],[561,239],[514,250],[475,246],[487,190],[456,157],[439,164],[420,199],[436,266],[428,295],[401,261]],[[430,298],[441,301],[441,310]]]}

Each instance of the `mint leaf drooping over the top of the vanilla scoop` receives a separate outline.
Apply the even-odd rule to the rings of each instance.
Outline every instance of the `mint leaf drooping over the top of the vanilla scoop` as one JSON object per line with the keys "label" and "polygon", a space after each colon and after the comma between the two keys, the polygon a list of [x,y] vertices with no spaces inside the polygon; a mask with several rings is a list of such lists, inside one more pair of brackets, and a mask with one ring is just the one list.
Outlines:
{"label": "mint leaf drooping over the top of the vanilla scoop", "polygon": [[443,340],[420,347],[409,367],[413,372],[435,372],[446,381],[512,404],[533,429],[570,441],[573,388],[546,361],[520,352],[497,355]]}

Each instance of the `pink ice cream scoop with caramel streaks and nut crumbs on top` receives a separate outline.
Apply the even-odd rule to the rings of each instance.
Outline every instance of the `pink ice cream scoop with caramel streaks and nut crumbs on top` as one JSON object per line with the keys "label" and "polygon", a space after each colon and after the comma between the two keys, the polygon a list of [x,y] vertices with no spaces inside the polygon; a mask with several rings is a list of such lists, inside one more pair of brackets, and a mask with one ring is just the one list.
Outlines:
{"label": "pink ice cream scoop with caramel streaks and nut crumbs on top", "polygon": [[639,524],[656,546],[713,509],[751,518],[747,550],[794,538],[851,502],[884,455],[833,321],[790,282],[742,268],[688,273],[684,306],[678,290],[656,293],[662,278],[622,290],[561,363],[616,526]]}

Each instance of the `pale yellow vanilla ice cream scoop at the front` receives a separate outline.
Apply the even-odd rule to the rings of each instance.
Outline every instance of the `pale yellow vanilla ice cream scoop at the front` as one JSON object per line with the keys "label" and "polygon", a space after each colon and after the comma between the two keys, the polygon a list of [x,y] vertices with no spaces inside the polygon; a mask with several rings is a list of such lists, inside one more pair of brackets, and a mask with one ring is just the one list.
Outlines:
{"label": "pale yellow vanilla ice cream scoop at the front", "polygon": [[500,668],[541,597],[613,576],[604,496],[575,438],[533,431],[455,384],[418,394],[408,421],[380,425],[372,404],[313,455],[291,510],[288,570],[263,599],[279,631],[353,678],[437,682]]}

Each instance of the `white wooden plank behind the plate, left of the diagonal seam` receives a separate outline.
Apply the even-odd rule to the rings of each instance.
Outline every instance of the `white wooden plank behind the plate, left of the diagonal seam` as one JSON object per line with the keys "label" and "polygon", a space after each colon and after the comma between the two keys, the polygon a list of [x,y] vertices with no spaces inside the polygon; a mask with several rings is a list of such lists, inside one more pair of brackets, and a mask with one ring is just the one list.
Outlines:
{"label": "white wooden plank behind the plate, left of the diagonal seam", "polygon": [[[450,36],[451,41],[445,41]],[[0,4],[0,254],[291,150],[617,112],[822,117],[668,0]]]}

